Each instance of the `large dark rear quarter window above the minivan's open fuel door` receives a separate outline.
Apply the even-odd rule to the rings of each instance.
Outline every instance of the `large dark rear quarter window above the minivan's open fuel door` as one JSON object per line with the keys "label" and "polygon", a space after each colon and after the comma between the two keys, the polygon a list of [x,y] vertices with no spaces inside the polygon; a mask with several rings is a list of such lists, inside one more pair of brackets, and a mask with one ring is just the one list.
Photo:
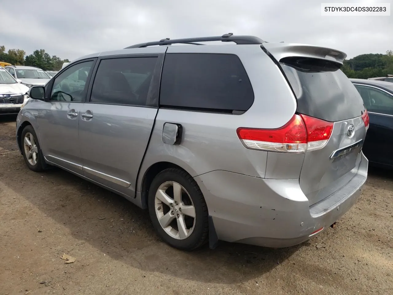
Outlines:
{"label": "large dark rear quarter window above the minivan's open fuel door", "polygon": [[167,53],[160,105],[211,111],[247,111],[254,94],[237,55]]}

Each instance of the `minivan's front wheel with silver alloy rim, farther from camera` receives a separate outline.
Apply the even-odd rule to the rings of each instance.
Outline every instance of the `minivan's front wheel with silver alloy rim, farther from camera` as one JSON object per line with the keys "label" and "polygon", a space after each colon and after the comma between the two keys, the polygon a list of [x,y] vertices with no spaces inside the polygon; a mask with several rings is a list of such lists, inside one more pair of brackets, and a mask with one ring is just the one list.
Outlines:
{"label": "minivan's front wheel with silver alloy rim, farther from camera", "polygon": [[36,172],[43,171],[45,163],[33,126],[28,125],[23,129],[20,140],[22,154],[29,169]]}

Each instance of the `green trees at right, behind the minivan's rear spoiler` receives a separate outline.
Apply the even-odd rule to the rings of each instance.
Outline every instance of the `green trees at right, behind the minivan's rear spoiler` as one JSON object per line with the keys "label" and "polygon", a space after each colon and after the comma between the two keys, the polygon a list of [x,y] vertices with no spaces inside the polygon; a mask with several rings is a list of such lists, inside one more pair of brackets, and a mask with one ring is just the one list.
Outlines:
{"label": "green trees at right, behind the minivan's rear spoiler", "polygon": [[393,51],[369,53],[345,60],[342,71],[349,78],[368,79],[393,75]]}

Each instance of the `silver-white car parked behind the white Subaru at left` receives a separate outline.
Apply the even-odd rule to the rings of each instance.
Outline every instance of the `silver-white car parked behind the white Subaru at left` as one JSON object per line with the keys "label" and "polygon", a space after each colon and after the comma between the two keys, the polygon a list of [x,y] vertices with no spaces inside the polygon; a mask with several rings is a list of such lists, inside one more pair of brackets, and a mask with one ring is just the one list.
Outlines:
{"label": "silver-white car parked behind the white Subaru at left", "polygon": [[45,85],[51,78],[44,70],[35,66],[6,66],[5,69],[15,78],[22,80],[27,87]]}

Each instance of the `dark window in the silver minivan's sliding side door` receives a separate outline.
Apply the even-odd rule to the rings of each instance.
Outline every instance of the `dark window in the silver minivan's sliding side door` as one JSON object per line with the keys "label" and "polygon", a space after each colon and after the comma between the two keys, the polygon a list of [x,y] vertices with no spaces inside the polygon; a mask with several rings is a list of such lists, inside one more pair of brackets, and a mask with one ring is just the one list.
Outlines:
{"label": "dark window in the silver minivan's sliding side door", "polygon": [[91,102],[146,105],[157,57],[103,59],[94,79]]}

